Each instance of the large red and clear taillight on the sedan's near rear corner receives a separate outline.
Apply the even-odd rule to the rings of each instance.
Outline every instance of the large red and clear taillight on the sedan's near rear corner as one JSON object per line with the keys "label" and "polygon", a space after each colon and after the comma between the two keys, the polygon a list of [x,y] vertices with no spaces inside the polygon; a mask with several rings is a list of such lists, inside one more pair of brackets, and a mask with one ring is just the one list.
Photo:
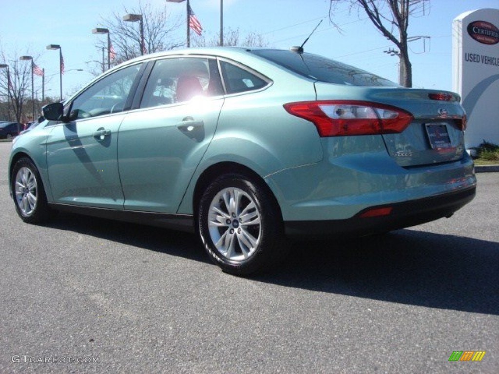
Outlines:
{"label": "large red and clear taillight on the sedan's near rear corner", "polygon": [[284,104],[293,116],[311,121],[321,137],[401,133],[413,116],[367,101],[324,100]]}

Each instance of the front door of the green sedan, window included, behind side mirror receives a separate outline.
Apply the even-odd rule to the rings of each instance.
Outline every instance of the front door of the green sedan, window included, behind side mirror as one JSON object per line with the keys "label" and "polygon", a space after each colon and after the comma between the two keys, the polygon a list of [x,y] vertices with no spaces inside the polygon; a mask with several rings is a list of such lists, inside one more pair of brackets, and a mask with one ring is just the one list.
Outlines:
{"label": "front door of the green sedan, window included, behind side mirror", "polygon": [[73,120],[55,125],[46,146],[54,202],[123,209],[117,135],[139,71],[141,64],[115,71],[66,106]]}

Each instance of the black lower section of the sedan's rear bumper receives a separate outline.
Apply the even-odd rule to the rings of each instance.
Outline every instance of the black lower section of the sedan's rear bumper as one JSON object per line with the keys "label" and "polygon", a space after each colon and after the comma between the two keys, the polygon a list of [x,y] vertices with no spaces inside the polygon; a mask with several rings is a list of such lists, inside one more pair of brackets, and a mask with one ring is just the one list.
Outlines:
{"label": "black lower section of the sedan's rear bumper", "polygon": [[[449,217],[475,197],[476,187],[394,204],[372,206],[348,219],[285,221],[286,236],[310,239],[371,235]],[[390,214],[362,217],[366,211],[391,207]]]}

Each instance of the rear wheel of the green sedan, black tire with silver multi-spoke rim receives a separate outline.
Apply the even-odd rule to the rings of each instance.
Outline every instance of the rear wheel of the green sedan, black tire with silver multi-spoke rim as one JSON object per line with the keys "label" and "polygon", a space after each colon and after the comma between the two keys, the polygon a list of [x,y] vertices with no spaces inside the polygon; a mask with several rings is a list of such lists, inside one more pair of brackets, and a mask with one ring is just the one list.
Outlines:
{"label": "rear wheel of the green sedan, black tire with silver multi-spoke rim", "polygon": [[[239,196],[234,209],[224,199],[231,194]],[[227,174],[213,181],[201,197],[197,217],[198,232],[210,259],[235,275],[260,272],[283,260],[287,246],[276,205],[269,192],[247,176]]]}

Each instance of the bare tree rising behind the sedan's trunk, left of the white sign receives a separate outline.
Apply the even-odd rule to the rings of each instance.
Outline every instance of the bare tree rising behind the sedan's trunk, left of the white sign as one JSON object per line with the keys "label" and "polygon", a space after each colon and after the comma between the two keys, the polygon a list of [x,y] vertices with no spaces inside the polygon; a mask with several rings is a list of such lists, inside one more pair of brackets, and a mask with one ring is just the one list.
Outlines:
{"label": "bare tree rising behind the sedan's trunk, left of the white sign", "polygon": [[399,57],[399,84],[412,87],[412,65],[408,49],[410,38],[407,28],[409,18],[429,6],[429,0],[330,0],[329,19],[334,24],[334,11],[340,2],[350,3],[351,9],[364,10],[383,36],[397,46],[398,51],[391,52]]}

